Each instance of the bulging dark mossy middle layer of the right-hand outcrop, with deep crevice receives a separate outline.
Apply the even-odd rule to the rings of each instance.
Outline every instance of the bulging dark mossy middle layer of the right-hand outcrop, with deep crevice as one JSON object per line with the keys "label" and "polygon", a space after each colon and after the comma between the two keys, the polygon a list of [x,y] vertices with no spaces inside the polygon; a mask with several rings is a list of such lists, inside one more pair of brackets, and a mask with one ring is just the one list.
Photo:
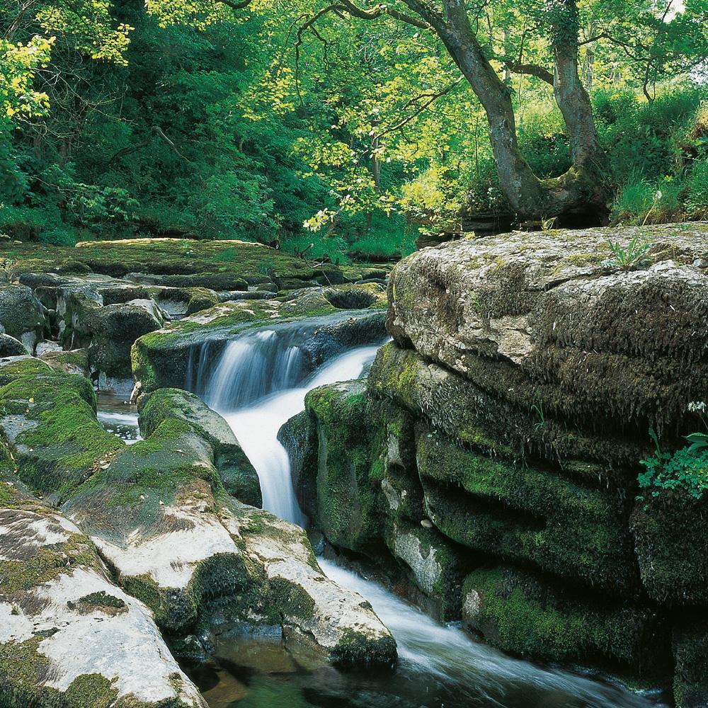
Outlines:
{"label": "bulging dark mossy middle layer of the right-hand outcrop, with deep crevice", "polygon": [[435,433],[418,438],[418,470],[430,519],[456,542],[615,592],[636,585],[628,512],[612,493]]}

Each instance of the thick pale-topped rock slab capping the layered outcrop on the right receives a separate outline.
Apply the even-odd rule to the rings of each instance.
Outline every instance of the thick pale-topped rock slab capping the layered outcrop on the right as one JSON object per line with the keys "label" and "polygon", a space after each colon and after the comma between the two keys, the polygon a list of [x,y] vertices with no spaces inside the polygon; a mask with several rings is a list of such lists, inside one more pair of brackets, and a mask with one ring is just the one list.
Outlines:
{"label": "thick pale-topped rock slab capping the layered outcrop on the right", "polygon": [[[632,239],[623,265],[617,253]],[[697,225],[423,249],[392,271],[389,331],[482,389],[519,396],[512,382],[525,380],[527,408],[537,390],[545,411],[568,421],[670,428],[688,401],[708,397],[708,335],[696,329],[708,316],[706,242]],[[503,376],[489,377],[484,360]]]}

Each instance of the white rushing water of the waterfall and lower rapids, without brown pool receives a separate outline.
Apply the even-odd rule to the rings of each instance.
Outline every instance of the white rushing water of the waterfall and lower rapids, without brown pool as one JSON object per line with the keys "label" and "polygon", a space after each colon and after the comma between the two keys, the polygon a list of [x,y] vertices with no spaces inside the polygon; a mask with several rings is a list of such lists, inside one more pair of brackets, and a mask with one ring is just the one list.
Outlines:
{"label": "white rushing water of the waterfall and lower rapids, without brown pool", "polygon": [[[299,335],[303,336],[302,331]],[[349,350],[309,377],[303,377],[302,359],[295,341],[279,342],[278,336],[274,331],[266,331],[227,346],[207,384],[205,398],[229,422],[256,468],[263,491],[263,508],[304,525],[306,519],[292,489],[290,461],[276,437],[278,430],[304,409],[304,397],[310,389],[359,377],[367,362],[374,358],[378,346]],[[274,367],[277,372],[273,371]],[[268,378],[268,372],[274,376]],[[369,600],[396,638],[399,668],[396,686],[391,687],[392,695],[401,695],[395,693],[397,690],[408,690],[399,682],[407,686],[412,683],[414,691],[420,690],[426,695],[438,683],[455,695],[455,705],[459,706],[503,707],[508,705],[505,697],[509,697],[514,706],[641,708],[659,705],[582,675],[544,669],[509,658],[486,644],[472,641],[460,629],[435,622],[377,583],[324,559],[320,560],[320,566],[334,581],[357,590]],[[524,696],[528,697],[528,703]]]}

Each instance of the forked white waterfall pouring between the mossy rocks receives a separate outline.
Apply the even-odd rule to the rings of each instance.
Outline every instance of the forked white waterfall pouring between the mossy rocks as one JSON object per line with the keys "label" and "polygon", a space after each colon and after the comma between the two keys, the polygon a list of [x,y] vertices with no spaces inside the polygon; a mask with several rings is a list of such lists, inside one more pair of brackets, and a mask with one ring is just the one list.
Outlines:
{"label": "forked white waterfall pouring between the mossy rocks", "polygon": [[[307,341],[311,333],[312,325],[268,329],[229,342],[202,393],[206,403],[229,423],[256,468],[263,508],[300,526],[307,519],[292,489],[290,459],[277,438],[278,430],[304,410],[310,389],[358,378],[381,346],[354,348],[310,372],[298,343]],[[200,363],[198,381],[204,369]]]}

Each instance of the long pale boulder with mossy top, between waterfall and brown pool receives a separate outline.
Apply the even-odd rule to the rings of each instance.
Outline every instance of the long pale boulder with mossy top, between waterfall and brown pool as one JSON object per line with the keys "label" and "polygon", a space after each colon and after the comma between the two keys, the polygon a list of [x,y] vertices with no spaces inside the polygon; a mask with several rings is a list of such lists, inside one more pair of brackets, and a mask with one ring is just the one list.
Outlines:
{"label": "long pale boulder with mossy top, between waterfall and brown pool", "polygon": [[388,630],[362,598],[324,576],[304,531],[229,494],[236,443],[222,418],[192,394],[166,390],[141,401],[141,422],[145,439],[62,508],[162,629],[181,636],[208,627],[212,615],[217,625],[224,617],[282,624],[337,661],[394,660]]}

